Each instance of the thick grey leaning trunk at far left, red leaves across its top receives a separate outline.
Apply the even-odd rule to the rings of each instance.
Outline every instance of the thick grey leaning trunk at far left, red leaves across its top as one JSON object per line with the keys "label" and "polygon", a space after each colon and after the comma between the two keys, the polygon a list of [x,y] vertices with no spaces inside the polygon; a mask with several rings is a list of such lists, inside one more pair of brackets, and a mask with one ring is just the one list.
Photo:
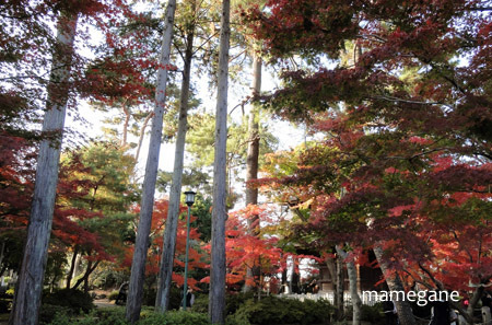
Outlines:
{"label": "thick grey leaning trunk at far left, red leaves across its top", "polygon": [[43,120],[43,134],[48,136],[39,146],[36,183],[27,240],[24,247],[17,290],[10,324],[35,325],[38,322],[43,280],[58,183],[58,169],[65,116],[70,90],[78,15],[62,13],[57,24],[57,46],[54,50],[48,100]]}

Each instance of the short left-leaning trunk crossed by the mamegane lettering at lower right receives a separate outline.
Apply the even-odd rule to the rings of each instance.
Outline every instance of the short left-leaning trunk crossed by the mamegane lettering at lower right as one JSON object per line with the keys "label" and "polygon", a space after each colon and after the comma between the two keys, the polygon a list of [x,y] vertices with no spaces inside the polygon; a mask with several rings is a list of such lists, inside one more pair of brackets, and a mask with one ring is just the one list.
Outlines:
{"label": "short left-leaning trunk crossed by the mamegane lettering at lower right", "polygon": [[[374,246],[374,254],[376,255],[377,263],[379,264],[380,270],[383,271],[383,275],[385,276],[386,283],[388,285],[389,290],[391,291],[405,291],[403,285],[401,283],[401,279],[398,276],[398,274],[390,275],[389,271],[390,268],[388,264],[383,259],[383,248],[375,245]],[[415,325],[415,317],[413,317],[412,314],[412,307],[408,303],[408,301],[394,301],[398,318],[400,321],[400,325]]]}

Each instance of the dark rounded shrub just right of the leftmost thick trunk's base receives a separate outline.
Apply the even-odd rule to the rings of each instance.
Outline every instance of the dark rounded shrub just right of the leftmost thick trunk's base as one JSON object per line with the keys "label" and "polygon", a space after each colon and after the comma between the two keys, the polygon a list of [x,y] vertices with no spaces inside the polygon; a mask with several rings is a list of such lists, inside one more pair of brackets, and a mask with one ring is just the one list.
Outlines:
{"label": "dark rounded shrub just right of the leftmost thick trunk's base", "polygon": [[91,294],[75,290],[61,289],[43,297],[43,303],[48,305],[65,306],[70,309],[71,314],[89,313],[94,309]]}

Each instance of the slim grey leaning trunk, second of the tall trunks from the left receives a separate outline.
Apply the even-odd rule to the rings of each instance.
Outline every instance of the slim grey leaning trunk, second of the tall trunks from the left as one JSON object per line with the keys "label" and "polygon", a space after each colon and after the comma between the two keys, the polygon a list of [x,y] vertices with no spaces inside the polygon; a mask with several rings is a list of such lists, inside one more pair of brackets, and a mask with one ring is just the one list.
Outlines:
{"label": "slim grey leaning trunk, second of the tall trunks from the left", "polygon": [[157,178],[159,153],[161,149],[162,124],[166,101],[167,72],[169,67],[171,42],[173,38],[174,13],[176,0],[167,2],[165,26],[163,33],[157,85],[155,88],[155,108],[152,119],[149,155],[147,158],[145,176],[143,178],[142,200],[140,204],[140,219],[131,264],[130,285],[128,288],[126,317],[136,323],[140,317],[143,297],[143,280],[145,276],[147,253],[149,248],[149,234],[154,207],[155,183]]}

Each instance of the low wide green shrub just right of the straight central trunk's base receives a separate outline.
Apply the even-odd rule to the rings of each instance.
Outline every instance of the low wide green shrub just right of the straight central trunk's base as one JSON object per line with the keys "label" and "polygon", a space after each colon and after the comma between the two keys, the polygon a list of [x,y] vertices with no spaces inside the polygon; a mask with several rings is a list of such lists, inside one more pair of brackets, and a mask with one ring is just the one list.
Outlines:
{"label": "low wide green shrub just right of the straight central trunk's base", "polygon": [[247,300],[227,318],[231,325],[326,324],[332,306],[325,300],[280,299],[267,297]]}

